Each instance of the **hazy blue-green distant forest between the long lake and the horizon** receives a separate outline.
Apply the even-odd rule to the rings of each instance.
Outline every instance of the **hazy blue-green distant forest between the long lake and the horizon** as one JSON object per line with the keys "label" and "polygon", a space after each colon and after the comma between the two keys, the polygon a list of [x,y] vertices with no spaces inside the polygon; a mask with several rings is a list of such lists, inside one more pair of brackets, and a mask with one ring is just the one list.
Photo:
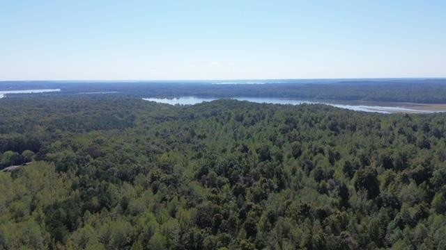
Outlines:
{"label": "hazy blue-green distant forest between the long lake and the horizon", "polygon": [[[217,84],[215,84],[217,83]],[[321,79],[265,81],[3,81],[1,90],[60,88],[52,95],[116,92],[126,97],[282,97],[344,101],[446,103],[446,79]],[[253,84],[256,83],[256,84]],[[17,95],[10,95],[11,97]]]}

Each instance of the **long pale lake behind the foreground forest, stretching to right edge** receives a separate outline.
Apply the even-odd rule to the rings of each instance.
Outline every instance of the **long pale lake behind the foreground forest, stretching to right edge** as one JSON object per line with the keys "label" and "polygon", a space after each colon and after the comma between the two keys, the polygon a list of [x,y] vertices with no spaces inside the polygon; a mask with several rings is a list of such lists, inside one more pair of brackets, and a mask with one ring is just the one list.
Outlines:
{"label": "long pale lake behind the foreground forest, stretching to right edge", "polygon": [[[155,101],[157,103],[167,103],[170,105],[194,105],[203,101],[214,101],[218,98],[203,97],[178,97],[178,98],[144,98],[146,101]],[[375,113],[434,113],[445,112],[445,104],[423,104],[423,103],[398,103],[381,101],[312,101],[300,99],[282,99],[270,97],[234,97],[238,101],[251,101],[254,103],[273,103],[273,104],[326,104],[337,108],[346,108],[348,110],[375,112]]]}

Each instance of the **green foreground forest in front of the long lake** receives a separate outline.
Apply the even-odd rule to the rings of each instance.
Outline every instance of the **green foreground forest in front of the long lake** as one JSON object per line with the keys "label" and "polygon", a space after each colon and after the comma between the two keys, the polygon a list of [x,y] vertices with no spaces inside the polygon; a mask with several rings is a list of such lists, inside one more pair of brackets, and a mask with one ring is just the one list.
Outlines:
{"label": "green foreground forest in front of the long lake", "polygon": [[0,100],[0,249],[445,249],[446,115]]}

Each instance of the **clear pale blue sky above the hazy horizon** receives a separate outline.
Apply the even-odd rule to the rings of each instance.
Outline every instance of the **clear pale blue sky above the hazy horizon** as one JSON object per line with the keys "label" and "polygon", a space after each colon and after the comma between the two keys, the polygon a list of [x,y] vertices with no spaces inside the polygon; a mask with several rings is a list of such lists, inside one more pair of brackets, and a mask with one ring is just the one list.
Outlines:
{"label": "clear pale blue sky above the hazy horizon", "polygon": [[3,1],[0,80],[446,76],[446,1]]}

